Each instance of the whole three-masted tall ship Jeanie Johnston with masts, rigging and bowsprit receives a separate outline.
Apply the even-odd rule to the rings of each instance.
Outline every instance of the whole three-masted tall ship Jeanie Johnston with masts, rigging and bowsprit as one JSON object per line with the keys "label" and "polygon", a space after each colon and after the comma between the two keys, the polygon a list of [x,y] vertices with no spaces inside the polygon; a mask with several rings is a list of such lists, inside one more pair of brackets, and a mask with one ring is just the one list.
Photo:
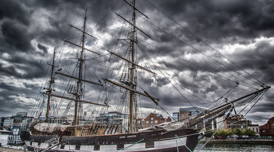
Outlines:
{"label": "whole three-masted tall ship Jeanie Johnston with masts, rigging and bowsprit", "polygon": [[[111,15],[113,20],[106,19],[106,15],[101,20],[91,19],[86,10],[85,17],[69,25],[60,45],[54,49],[31,113],[34,119],[26,122],[20,132],[28,150],[193,151],[206,123],[231,113],[237,116],[238,111],[257,103],[270,88],[259,84],[259,89],[252,92],[234,93],[239,85],[249,86],[231,78],[233,87],[218,92],[220,96],[215,101],[204,99],[208,103],[206,110],[175,120],[162,106],[167,105],[167,100],[181,100],[194,106],[182,93],[190,93],[183,87],[184,78],[179,76],[186,74],[179,63],[182,57],[163,46],[153,45],[149,26],[157,25],[149,21],[139,2],[121,0],[119,4],[122,7],[120,12]],[[110,5],[109,11],[102,10],[109,14],[116,5],[116,2]],[[106,43],[109,36],[117,36],[116,41]],[[199,51],[190,43],[182,43]],[[166,58],[167,54],[172,54],[174,62]],[[171,68],[173,74],[167,71]],[[193,81],[200,86],[198,88],[216,92],[214,85]],[[176,92],[169,92],[171,88]],[[173,121],[137,127],[137,119],[142,118],[142,106],[148,105],[151,108],[146,108],[147,112],[157,109]],[[107,112],[113,112],[113,119],[102,123],[106,120],[100,114]],[[73,122],[60,123],[68,114],[74,116]],[[86,115],[89,121],[83,121]]]}

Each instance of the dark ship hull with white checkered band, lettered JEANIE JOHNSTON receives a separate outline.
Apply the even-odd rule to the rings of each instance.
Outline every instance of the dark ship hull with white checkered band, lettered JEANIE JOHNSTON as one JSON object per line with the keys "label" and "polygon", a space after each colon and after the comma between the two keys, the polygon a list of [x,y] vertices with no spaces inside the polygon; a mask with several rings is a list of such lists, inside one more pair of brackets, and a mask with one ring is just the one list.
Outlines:
{"label": "dark ship hull with white checkered band, lettered JEANIE JOHNSTON", "polygon": [[[177,135],[178,137],[176,137]],[[127,133],[118,135],[102,136],[62,136],[60,143],[50,150],[54,151],[193,151],[198,144],[200,134],[192,129],[178,129],[173,131],[157,130],[141,133]],[[25,131],[21,134],[21,139],[25,141],[28,150],[46,141],[58,138],[58,136],[32,135]]]}

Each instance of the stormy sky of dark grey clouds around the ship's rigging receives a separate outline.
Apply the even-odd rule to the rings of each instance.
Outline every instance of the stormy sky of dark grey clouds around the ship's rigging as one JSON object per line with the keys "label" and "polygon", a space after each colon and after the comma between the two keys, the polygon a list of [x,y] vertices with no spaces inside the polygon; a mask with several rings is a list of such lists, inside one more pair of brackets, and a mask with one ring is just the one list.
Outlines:
{"label": "stormy sky of dark grey clouds around the ship's rigging", "polygon": [[[227,79],[217,77],[216,74],[239,81],[239,88],[231,100],[237,98],[238,94],[247,94],[248,92],[245,90],[255,91],[255,89],[244,86],[247,85],[245,82],[257,89],[261,88],[260,82],[273,86],[273,3],[270,0],[254,0],[252,2],[248,0],[140,0],[138,6],[140,4],[142,7],[139,9],[149,16],[149,19],[146,19],[149,21],[147,22],[149,25],[148,33],[152,37],[148,40],[149,42],[170,54],[198,64],[215,73],[210,73],[167,54],[167,52],[152,48],[158,55],[184,71],[185,74],[172,70],[167,73],[177,80],[181,80],[181,86],[184,89],[181,89],[180,92],[184,97],[194,106],[204,108],[206,104],[195,99],[193,95],[210,101],[215,101],[219,96],[207,89],[187,85],[194,82],[194,79],[189,76],[210,88],[228,88],[236,85]],[[59,45],[69,28],[68,24],[83,19],[87,8],[89,18],[110,25],[113,21],[112,18],[117,17],[115,12],[120,12],[123,5],[125,5],[124,1],[104,0],[3,1],[0,5],[0,116],[11,116],[21,111],[31,112],[48,67],[47,62],[50,62],[54,47]],[[111,11],[107,13],[110,9]],[[107,16],[104,17],[105,14]],[[104,19],[100,20],[102,17]],[[113,22],[112,26],[118,26],[121,19],[115,21],[117,22]],[[95,33],[107,28],[106,25],[97,27],[98,29],[94,29]],[[187,32],[186,29],[198,38]],[[115,36],[117,33],[110,32],[106,37],[107,40],[101,40],[101,49],[112,50],[117,41]],[[260,82],[254,78],[251,78],[253,81],[246,78],[236,79],[227,72],[223,72],[220,67],[214,65],[211,67],[212,63],[204,55],[185,45],[186,41],[184,40],[187,40],[202,53],[251,78],[250,75],[238,68],[241,67]],[[222,57],[215,50],[227,58]],[[163,68],[170,69],[173,67],[159,57],[158,59]],[[229,60],[237,64],[238,67]],[[179,108],[189,107],[189,104],[169,96],[171,94],[185,100],[180,93],[170,86],[169,81],[163,75],[167,76],[167,74],[159,74],[157,77],[157,81],[165,86],[165,89],[160,87],[158,90],[160,105],[170,114]],[[239,74],[236,75],[239,76]],[[146,81],[149,81],[151,86],[155,82],[152,78],[146,78]],[[194,84],[201,86],[197,82]],[[168,93],[165,91],[166,89]],[[222,92],[222,90],[217,92]],[[273,92],[272,88],[269,89],[245,116],[253,124],[263,125],[274,116]],[[147,116],[150,112],[148,105],[142,105],[143,116]],[[158,109],[156,112],[162,113],[162,110]]]}

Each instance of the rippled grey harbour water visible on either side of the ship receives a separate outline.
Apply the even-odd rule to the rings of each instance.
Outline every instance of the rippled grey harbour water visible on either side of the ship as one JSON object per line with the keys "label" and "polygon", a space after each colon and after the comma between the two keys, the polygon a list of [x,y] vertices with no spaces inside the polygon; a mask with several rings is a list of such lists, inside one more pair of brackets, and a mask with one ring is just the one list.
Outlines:
{"label": "rippled grey harbour water visible on either side of the ship", "polygon": [[[9,135],[0,135],[0,143],[4,147],[10,147],[7,145]],[[204,143],[198,143],[198,146],[193,152],[273,152],[274,145],[271,144],[237,144],[237,143],[207,143],[202,150],[199,150]],[[12,146],[12,148],[21,149],[21,146]]]}

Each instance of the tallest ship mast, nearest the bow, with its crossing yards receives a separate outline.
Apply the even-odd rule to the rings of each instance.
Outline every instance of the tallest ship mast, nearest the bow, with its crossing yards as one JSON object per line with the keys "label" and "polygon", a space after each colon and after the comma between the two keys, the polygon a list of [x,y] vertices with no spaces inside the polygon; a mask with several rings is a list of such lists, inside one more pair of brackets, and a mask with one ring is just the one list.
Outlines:
{"label": "tallest ship mast, nearest the bow, with its crossing yards", "polygon": [[[142,31],[142,29],[140,29],[139,27],[136,26],[136,12],[138,11],[140,14],[142,14],[143,16],[145,16],[146,18],[148,18],[144,13],[140,12],[138,9],[135,8],[135,0],[133,0],[132,3],[127,2],[126,0],[124,0],[128,5],[130,5],[130,7],[132,8],[132,18],[130,20],[125,19],[123,16],[117,14],[121,19],[124,19],[126,22],[129,23],[129,28],[128,28],[128,36],[127,39],[118,39],[118,40],[129,40],[129,46],[128,46],[128,58],[125,57],[121,57],[119,54],[115,54],[114,52],[110,52],[111,54],[115,55],[116,57],[119,57],[121,60],[125,60],[127,62],[128,65],[128,69],[126,69],[123,74],[121,75],[121,79],[120,82],[123,84],[119,84],[117,82],[111,81],[107,78],[105,78],[105,81],[108,81],[114,85],[117,85],[121,88],[124,88],[126,90],[129,91],[129,133],[133,133],[135,132],[135,127],[134,127],[134,114],[133,114],[133,109],[135,108],[135,115],[137,114],[137,94],[139,95],[143,95],[149,98],[153,98],[153,100],[159,100],[158,98],[152,97],[146,93],[143,92],[139,92],[137,91],[137,67],[139,67],[142,70],[148,71],[150,73],[155,74],[153,71],[150,71],[149,69],[142,67],[141,65],[138,65],[136,63],[136,49],[135,47],[137,46],[138,43],[138,39],[137,39],[137,30],[140,31],[142,34],[148,36],[149,38],[151,38],[149,36],[149,34],[145,33],[144,31]],[[123,92],[123,98],[121,98],[121,100],[124,100],[125,96],[127,96],[126,94],[128,93],[128,91]],[[121,102],[123,103],[123,102]]]}

